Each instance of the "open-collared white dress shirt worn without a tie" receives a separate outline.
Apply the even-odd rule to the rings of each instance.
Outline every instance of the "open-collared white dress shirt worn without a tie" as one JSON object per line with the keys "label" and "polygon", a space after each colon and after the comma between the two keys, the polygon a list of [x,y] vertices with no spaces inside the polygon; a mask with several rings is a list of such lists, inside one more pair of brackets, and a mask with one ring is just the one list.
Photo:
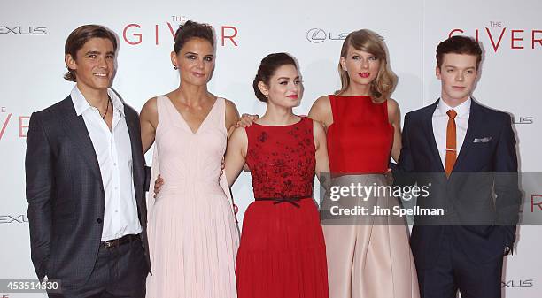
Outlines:
{"label": "open-collared white dress shirt worn without a tie", "polygon": [[77,86],[71,93],[75,112],[77,116],[82,114],[89,131],[104,183],[102,241],[142,231],[137,217],[132,147],[124,115],[124,104],[111,89],[107,90],[107,94],[111,97],[113,106],[108,111],[113,113],[111,131],[97,108],[89,105]]}

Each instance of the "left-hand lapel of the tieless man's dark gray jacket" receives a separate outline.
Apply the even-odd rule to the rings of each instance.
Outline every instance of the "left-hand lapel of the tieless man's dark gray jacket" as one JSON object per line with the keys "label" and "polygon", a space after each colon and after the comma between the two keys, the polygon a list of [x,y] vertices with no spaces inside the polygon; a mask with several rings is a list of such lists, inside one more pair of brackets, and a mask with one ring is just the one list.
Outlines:
{"label": "left-hand lapel of the tieless man's dark gray jacket", "polygon": [[68,137],[73,141],[74,146],[79,149],[78,152],[83,157],[83,160],[89,165],[90,172],[93,172],[97,178],[102,181],[100,166],[97,161],[96,151],[90,140],[89,131],[85,125],[82,115],[77,116],[72,103],[72,96],[66,97],[63,101],[63,110],[61,117],[64,130]]}

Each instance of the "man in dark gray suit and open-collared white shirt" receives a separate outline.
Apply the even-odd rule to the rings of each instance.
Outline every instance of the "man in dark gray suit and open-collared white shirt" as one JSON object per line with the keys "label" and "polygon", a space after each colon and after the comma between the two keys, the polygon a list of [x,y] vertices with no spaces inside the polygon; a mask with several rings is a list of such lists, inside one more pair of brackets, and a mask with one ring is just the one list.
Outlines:
{"label": "man in dark gray suit and open-collared white shirt", "polygon": [[144,160],[137,112],[111,88],[116,36],[97,25],[66,40],[70,96],[30,118],[25,161],[32,262],[61,281],[50,297],[144,297]]}

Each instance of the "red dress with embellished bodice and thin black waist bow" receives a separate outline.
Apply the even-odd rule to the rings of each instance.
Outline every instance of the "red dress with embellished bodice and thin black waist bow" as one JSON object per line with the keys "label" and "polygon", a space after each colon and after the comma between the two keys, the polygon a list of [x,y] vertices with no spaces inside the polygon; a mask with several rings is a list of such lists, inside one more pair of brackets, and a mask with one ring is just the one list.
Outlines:
{"label": "red dress with embellished bodice and thin black waist bow", "polygon": [[246,128],[255,202],[237,252],[239,298],[328,297],[326,248],[314,182],[313,121]]}

